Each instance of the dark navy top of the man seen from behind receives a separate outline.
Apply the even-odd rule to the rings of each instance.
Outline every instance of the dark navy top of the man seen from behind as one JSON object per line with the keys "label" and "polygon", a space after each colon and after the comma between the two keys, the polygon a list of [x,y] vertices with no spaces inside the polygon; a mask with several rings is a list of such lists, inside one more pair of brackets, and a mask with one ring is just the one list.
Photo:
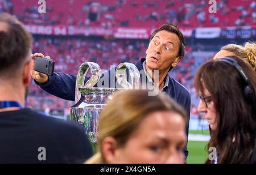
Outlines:
{"label": "dark navy top of the man seen from behind", "polygon": [[93,154],[82,127],[28,108],[0,112],[0,140],[0,164],[84,163]]}

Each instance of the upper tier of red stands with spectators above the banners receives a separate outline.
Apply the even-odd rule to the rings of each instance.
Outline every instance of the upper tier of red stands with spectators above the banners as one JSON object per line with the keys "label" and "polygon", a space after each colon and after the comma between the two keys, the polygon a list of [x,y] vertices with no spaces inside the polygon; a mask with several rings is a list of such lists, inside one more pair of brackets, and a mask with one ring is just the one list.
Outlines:
{"label": "upper tier of red stands with spectators above the banners", "polygon": [[204,0],[63,0],[61,3],[47,1],[46,5],[46,13],[39,14],[37,1],[0,0],[0,11],[18,16],[25,24],[37,25],[106,28],[152,28],[166,22],[193,28],[256,25],[256,2],[253,0],[220,0],[216,9]]}

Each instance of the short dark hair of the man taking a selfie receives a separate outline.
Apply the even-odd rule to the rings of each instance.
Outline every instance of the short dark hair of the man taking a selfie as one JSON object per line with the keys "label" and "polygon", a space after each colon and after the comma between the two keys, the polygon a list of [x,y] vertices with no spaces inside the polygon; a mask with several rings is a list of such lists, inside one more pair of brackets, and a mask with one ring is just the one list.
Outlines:
{"label": "short dark hair of the man taking a selfie", "polygon": [[150,41],[153,39],[153,37],[156,35],[156,33],[160,32],[160,31],[168,31],[170,33],[175,33],[177,35],[177,37],[179,37],[180,45],[179,45],[178,56],[183,58],[184,54],[185,54],[185,38],[184,38],[183,34],[181,33],[179,27],[177,27],[177,25],[172,24],[172,23],[163,24],[161,27],[155,29],[155,31],[152,33],[152,35],[150,37]]}

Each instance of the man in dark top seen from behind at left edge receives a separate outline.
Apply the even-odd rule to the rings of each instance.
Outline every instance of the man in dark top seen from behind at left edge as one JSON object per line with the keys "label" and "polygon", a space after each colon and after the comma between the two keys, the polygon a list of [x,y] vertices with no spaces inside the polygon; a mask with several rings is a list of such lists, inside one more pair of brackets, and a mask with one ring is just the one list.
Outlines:
{"label": "man in dark top seen from behind at left edge", "polygon": [[9,14],[0,14],[0,163],[82,163],[92,156],[74,123],[26,108],[32,37]]}

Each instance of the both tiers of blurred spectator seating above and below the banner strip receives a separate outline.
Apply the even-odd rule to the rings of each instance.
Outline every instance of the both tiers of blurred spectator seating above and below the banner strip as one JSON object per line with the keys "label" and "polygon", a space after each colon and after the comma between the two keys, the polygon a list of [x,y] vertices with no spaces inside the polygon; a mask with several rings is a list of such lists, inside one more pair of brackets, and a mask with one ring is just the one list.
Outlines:
{"label": "both tiers of blurred spectator seating above and below the banner strip", "polygon": [[[192,29],[230,26],[256,27],[256,2],[249,0],[217,1],[216,14],[208,12],[209,5],[204,0],[62,0],[58,3],[56,1],[46,2],[46,14],[39,14],[39,5],[37,1],[32,0],[0,0],[0,12],[9,12],[17,16],[25,25],[29,25],[30,29],[34,29],[33,27],[36,25],[37,27],[82,27],[82,29],[92,27],[92,30],[99,27],[105,29],[141,27],[151,31],[166,22],[178,24],[181,28],[191,28],[191,33],[187,37],[185,57],[171,71],[170,75],[179,80],[191,92],[192,118],[197,116],[195,106],[199,102],[193,87],[195,71],[202,63],[211,58],[221,45],[234,42],[233,37],[235,37],[233,31],[230,33],[224,31],[221,36],[225,36],[226,39],[200,40],[194,37]],[[13,6],[14,4],[15,6]],[[78,36],[71,36],[70,33],[70,36],[53,36],[55,33],[49,33],[46,36],[40,32],[34,34],[37,35],[34,35],[33,53],[40,52],[51,56],[55,60],[55,71],[68,74],[76,74],[81,63],[87,61],[98,63],[101,69],[109,69],[110,65],[118,65],[121,62],[135,63],[139,58],[145,56],[148,45],[148,36],[143,36],[140,39],[126,37],[123,40],[122,38],[114,39],[113,36],[87,36],[86,33],[79,33]],[[236,42],[242,44],[244,40],[236,40]],[[68,115],[68,109],[72,105],[72,101],[60,100],[49,95],[32,82],[28,96],[28,106],[31,108],[46,113],[50,112],[50,114],[61,113],[65,116]]]}

